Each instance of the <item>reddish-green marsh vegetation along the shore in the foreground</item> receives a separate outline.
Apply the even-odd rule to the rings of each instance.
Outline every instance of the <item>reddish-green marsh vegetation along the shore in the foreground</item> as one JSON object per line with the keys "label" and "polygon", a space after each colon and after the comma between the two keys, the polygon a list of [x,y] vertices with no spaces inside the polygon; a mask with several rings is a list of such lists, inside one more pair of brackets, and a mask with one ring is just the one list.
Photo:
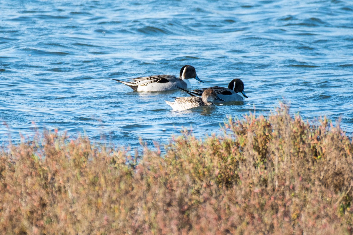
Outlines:
{"label": "reddish-green marsh vegetation along the shore in the foreground", "polygon": [[[6,234],[352,234],[352,142],[283,107],[142,156],[69,141],[0,152]],[[138,163],[137,163],[138,162]]]}

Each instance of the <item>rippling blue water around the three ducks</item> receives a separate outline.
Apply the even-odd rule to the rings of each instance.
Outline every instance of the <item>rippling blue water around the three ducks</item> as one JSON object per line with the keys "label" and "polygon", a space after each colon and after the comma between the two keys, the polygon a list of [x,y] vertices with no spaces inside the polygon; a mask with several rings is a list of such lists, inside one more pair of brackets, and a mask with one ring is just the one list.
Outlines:
{"label": "rippling blue water around the three ducks", "polygon": [[[2,143],[33,128],[116,146],[167,143],[182,127],[221,133],[227,115],[268,115],[279,100],[305,119],[341,118],[353,131],[352,1],[0,2]],[[204,84],[240,78],[248,99],[171,111],[180,91],[137,93],[110,78],[178,75],[190,64]]]}

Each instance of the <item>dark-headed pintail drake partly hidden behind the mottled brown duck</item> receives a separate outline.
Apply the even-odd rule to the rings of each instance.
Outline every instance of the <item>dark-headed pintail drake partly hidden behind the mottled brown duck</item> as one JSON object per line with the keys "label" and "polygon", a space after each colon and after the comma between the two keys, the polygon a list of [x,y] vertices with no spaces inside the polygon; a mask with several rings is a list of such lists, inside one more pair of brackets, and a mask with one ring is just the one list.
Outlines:
{"label": "dark-headed pintail drake partly hidden behind the mottled brown duck", "polygon": [[202,92],[206,89],[213,89],[219,98],[223,99],[224,101],[216,101],[214,103],[222,103],[222,102],[229,102],[229,101],[243,101],[243,97],[241,97],[238,93],[244,95],[247,98],[247,95],[244,92],[244,83],[239,78],[233,79],[228,84],[228,88],[213,86],[209,88],[202,88],[202,89],[195,89],[192,91],[186,91],[184,88],[179,87],[183,91],[187,92],[191,96],[201,96]]}

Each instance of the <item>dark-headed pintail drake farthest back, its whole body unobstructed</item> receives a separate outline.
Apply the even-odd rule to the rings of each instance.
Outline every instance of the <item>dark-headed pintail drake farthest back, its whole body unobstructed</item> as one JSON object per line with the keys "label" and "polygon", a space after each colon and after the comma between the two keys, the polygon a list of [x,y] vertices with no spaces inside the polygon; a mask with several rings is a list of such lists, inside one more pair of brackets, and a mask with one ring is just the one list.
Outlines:
{"label": "dark-headed pintail drake farthest back, its whole body unobstructed", "polygon": [[180,69],[179,78],[173,75],[155,75],[149,77],[133,78],[132,82],[120,81],[118,79],[113,79],[115,81],[121,82],[134,91],[149,92],[149,91],[170,91],[181,87],[186,89],[191,86],[187,79],[195,78],[197,81],[203,82],[196,75],[196,70],[191,65],[185,65]]}

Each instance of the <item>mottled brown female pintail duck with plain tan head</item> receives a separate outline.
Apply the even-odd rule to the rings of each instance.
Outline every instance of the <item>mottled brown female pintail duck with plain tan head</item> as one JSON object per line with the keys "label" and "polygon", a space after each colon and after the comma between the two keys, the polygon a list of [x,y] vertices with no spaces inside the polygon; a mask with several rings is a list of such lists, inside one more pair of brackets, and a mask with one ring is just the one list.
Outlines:
{"label": "mottled brown female pintail duck with plain tan head", "polygon": [[201,97],[173,97],[175,98],[174,102],[166,101],[167,104],[172,106],[173,110],[176,111],[183,111],[195,107],[201,107],[201,106],[209,106],[213,105],[213,102],[215,100],[220,100],[216,92],[213,89],[206,89]]}

